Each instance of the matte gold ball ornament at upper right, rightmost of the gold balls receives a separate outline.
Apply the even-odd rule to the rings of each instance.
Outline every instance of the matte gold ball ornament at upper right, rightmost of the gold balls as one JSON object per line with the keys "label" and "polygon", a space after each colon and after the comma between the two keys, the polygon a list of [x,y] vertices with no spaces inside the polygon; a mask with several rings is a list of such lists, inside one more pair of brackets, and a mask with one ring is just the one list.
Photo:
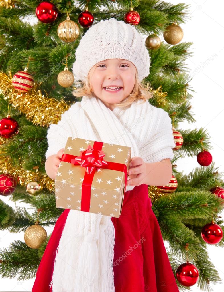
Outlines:
{"label": "matte gold ball ornament at upper right, rightmost of the gold balls", "polygon": [[183,39],[183,29],[174,22],[166,27],[163,37],[168,44],[176,45]]}

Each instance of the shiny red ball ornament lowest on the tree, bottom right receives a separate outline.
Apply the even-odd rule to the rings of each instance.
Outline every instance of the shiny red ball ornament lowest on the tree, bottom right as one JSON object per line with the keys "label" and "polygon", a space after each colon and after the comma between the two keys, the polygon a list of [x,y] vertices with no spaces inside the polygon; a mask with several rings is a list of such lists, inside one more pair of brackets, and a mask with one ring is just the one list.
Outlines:
{"label": "shiny red ball ornament lowest on the tree, bottom right", "polygon": [[199,277],[197,268],[188,261],[180,265],[176,270],[176,278],[183,286],[193,286]]}

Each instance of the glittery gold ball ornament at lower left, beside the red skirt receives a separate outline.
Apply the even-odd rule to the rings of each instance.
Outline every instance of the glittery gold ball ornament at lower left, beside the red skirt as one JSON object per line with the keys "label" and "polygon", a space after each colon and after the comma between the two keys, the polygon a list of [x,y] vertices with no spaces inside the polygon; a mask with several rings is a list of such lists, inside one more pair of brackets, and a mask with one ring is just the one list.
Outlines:
{"label": "glittery gold ball ornament at lower left, beside the red skirt", "polygon": [[28,227],[24,232],[24,241],[30,248],[39,248],[41,244],[47,239],[46,230],[39,225],[39,221],[35,225]]}

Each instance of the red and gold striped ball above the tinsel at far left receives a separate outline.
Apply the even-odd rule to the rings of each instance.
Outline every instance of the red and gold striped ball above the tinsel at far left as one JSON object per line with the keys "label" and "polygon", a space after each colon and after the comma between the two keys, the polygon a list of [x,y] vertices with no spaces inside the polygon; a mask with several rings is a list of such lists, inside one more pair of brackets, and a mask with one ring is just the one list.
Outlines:
{"label": "red and gold striped ball above the tinsel at far left", "polygon": [[30,73],[27,72],[27,68],[24,71],[18,71],[12,78],[13,87],[20,92],[30,91],[34,86],[34,79]]}

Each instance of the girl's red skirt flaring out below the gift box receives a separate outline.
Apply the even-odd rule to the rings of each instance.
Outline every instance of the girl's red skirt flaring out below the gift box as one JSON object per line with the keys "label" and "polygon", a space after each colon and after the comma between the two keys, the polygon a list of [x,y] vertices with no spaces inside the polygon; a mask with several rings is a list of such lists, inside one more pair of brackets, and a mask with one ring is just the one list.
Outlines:
{"label": "girl's red skirt flaring out below the gift box", "polygon": [[[52,292],[49,285],[56,250],[69,211],[65,209],[55,224],[32,292]],[[115,292],[179,292],[148,197],[148,185],[125,192],[120,218],[112,217],[111,220],[115,228]]]}

